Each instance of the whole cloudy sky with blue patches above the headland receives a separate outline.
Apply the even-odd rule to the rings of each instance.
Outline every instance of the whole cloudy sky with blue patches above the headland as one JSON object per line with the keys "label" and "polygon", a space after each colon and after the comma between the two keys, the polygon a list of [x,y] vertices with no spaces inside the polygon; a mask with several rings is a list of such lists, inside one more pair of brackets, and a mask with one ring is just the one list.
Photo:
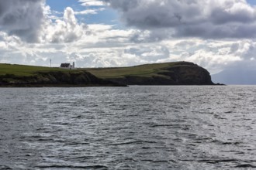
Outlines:
{"label": "whole cloudy sky with blue patches above the headland", "polygon": [[0,0],[0,63],[256,66],[255,0]]}

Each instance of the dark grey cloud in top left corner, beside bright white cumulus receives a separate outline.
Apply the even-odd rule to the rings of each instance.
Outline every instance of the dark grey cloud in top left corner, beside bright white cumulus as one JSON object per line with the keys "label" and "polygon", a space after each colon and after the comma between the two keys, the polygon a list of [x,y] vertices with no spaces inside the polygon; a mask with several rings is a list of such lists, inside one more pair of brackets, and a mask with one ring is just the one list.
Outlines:
{"label": "dark grey cloud in top left corner, beside bright white cumulus", "polygon": [[0,30],[36,42],[43,22],[44,0],[1,0]]}

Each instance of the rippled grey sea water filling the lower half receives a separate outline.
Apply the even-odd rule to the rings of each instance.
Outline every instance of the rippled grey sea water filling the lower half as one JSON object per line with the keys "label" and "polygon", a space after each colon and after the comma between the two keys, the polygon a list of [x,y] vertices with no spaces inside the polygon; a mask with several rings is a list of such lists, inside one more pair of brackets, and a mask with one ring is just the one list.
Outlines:
{"label": "rippled grey sea water filling the lower half", "polygon": [[254,86],[0,95],[0,169],[256,168]]}

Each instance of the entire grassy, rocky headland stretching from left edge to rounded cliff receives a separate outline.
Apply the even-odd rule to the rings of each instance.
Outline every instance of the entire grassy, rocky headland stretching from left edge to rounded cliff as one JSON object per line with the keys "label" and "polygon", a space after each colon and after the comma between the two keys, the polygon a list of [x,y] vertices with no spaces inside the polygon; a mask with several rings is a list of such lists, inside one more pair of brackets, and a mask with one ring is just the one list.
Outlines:
{"label": "entire grassy, rocky headland stretching from left edge to rounded cliff", "polygon": [[0,64],[0,87],[126,85],[214,85],[214,83],[207,70],[189,62],[78,70]]}

